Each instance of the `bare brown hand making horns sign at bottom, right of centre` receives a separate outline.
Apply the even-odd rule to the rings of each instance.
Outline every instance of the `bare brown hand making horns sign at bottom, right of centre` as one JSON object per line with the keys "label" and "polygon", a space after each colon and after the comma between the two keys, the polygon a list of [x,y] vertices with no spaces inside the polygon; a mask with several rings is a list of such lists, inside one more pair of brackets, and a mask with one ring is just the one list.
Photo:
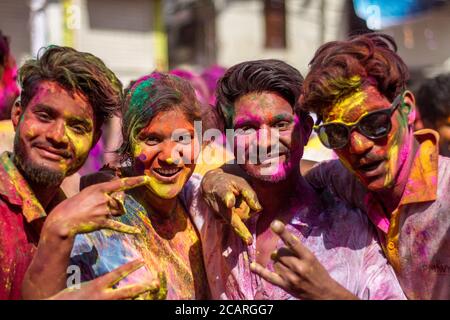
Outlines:
{"label": "bare brown hand making horns sign at bottom, right of centre", "polygon": [[314,254],[281,221],[272,222],[271,228],[287,247],[280,248],[271,256],[275,272],[253,262],[250,268],[254,273],[296,298],[357,299],[331,278]]}

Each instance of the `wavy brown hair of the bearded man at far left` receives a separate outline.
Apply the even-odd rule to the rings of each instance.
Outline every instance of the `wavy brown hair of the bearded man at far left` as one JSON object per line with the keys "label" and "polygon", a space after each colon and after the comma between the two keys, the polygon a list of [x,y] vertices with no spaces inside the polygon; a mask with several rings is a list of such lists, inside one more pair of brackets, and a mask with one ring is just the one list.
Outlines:
{"label": "wavy brown hair of the bearded man at far left", "polygon": [[94,110],[96,129],[120,110],[122,84],[116,75],[96,56],[73,48],[44,48],[37,59],[26,61],[20,68],[19,81],[23,108],[43,81],[54,81],[72,94],[80,92]]}

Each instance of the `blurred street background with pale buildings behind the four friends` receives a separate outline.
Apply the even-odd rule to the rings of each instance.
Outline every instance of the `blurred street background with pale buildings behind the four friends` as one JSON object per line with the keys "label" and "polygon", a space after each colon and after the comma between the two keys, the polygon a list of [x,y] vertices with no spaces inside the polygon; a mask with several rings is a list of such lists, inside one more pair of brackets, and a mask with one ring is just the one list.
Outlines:
{"label": "blurred street background with pale buildings behind the four friends", "polygon": [[[324,42],[382,31],[398,44],[410,89],[428,81],[422,108],[430,110],[429,127],[447,137],[441,150],[450,155],[450,75],[429,82],[450,71],[448,0],[0,0],[0,30],[18,66],[49,44],[72,46],[103,59],[124,87],[155,69],[176,69],[207,104],[218,77],[236,63],[278,58],[305,75]],[[433,96],[439,99],[431,103]],[[102,150],[120,145],[120,119],[109,128],[83,173],[114,161]],[[313,135],[304,158],[333,157]]]}

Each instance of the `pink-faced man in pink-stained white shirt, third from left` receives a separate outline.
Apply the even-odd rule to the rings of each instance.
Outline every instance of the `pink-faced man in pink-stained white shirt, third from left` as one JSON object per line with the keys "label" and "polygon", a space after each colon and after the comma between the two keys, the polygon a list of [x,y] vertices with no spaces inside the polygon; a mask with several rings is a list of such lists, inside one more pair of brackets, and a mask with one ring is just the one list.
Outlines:
{"label": "pink-faced man in pink-stained white shirt, third from left", "polygon": [[263,209],[250,217],[249,207],[261,208],[249,187],[241,192],[245,180],[210,171],[202,190],[229,222],[223,224],[202,200],[200,179],[190,180],[185,195],[212,298],[401,299],[367,218],[317,193],[300,174],[313,125],[307,113],[294,112],[302,80],[284,62],[259,60],[231,67],[219,81],[218,106],[235,131],[236,159]]}

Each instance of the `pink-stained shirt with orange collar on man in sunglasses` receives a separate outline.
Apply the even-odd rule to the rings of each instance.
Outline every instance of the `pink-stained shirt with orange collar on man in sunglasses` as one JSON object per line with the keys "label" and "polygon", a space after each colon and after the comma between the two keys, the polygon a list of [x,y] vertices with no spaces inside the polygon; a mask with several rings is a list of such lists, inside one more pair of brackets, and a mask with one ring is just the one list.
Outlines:
{"label": "pink-stained shirt with orange collar on man in sunglasses", "polygon": [[306,175],[376,226],[386,256],[409,299],[450,299],[450,159],[438,156],[433,130],[414,133],[419,142],[399,207],[390,214],[339,161],[323,162]]}

